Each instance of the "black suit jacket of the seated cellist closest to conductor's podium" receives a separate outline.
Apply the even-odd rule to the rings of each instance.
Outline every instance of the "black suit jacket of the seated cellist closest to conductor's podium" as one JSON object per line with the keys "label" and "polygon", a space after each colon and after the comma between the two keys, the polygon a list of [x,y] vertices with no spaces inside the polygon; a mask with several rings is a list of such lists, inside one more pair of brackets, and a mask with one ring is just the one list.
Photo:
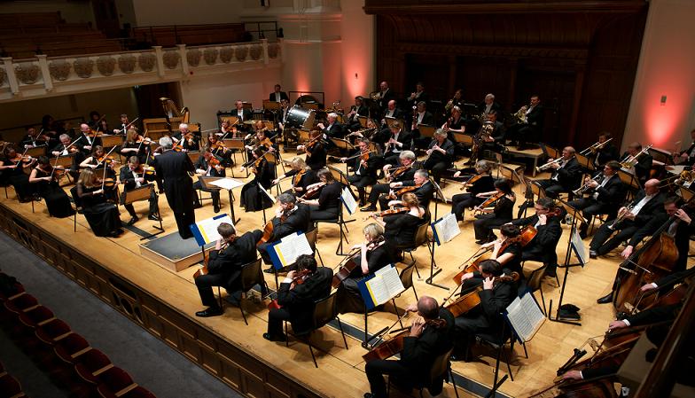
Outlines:
{"label": "black suit jacket of the seated cellist closest to conductor's podium", "polygon": [[207,273],[223,274],[223,287],[230,292],[237,290],[236,281],[241,274],[241,266],[257,257],[256,242],[261,239],[260,230],[246,232],[223,250],[211,250],[207,261]]}

